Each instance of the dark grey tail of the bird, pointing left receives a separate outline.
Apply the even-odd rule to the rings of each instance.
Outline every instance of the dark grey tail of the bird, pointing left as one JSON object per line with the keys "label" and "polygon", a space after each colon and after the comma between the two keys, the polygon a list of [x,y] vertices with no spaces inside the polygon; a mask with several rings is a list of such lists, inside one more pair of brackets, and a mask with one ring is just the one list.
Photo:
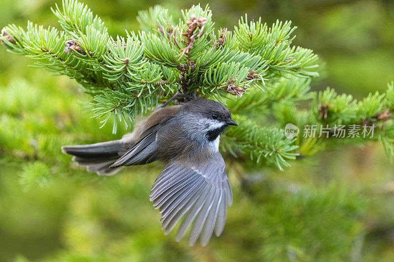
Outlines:
{"label": "dark grey tail of the bird, pointing left", "polygon": [[118,168],[109,168],[122,156],[124,150],[120,140],[96,143],[92,145],[62,146],[62,152],[72,155],[72,160],[86,166],[88,172],[98,175],[114,175]]}

